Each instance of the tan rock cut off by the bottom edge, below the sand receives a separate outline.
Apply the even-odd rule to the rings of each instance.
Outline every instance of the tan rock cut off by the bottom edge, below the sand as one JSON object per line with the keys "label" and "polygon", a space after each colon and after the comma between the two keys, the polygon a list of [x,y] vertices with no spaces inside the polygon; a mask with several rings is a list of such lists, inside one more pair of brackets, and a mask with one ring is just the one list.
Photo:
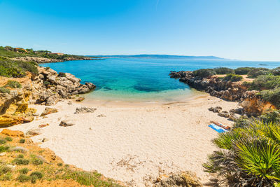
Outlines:
{"label": "tan rock cut off by the bottom edge, below the sand", "polygon": [[172,174],[169,177],[164,177],[162,179],[158,179],[154,185],[154,187],[169,187],[169,186],[186,186],[186,187],[200,187],[202,183],[200,183],[196,174],[193,172],[179,172],[176,174]]}

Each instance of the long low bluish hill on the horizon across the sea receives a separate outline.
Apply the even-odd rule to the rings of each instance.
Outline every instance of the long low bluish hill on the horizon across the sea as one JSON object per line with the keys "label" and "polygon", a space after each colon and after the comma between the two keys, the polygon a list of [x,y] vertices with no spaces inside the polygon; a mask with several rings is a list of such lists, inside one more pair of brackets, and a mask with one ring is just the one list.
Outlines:
{"label": "long low bluish hill on the horizon across the sea", "polygon": [[127,57],[127,58],[188,58],[188,59],[208,59],[208,60],[225,60],[221,57],[214,56],[184,56],[184,55],[95,55],[95,57]]}

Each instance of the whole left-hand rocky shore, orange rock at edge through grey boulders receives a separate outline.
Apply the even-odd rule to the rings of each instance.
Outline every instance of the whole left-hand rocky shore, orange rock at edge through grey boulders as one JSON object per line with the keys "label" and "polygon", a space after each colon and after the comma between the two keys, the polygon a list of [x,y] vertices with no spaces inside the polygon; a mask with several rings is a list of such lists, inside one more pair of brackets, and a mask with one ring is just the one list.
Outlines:
{"label": "whole left-hand rocky shore, orange rock at edge through grey boulders", "polygon": [[85,94],[94,90],[93,83],[80,83],[69,73],[38,67],[36,76],[27,74],[25,78],[1,77],[0,84],[5,85],[10,79],[18,81],[22,88],[11,88],[10,92],[0,93],[0,127],[8,127],[20,123],[29,123],[37,116],[36,109],[29,104],[50,106],[62,99],[70,99],[73,95]]}

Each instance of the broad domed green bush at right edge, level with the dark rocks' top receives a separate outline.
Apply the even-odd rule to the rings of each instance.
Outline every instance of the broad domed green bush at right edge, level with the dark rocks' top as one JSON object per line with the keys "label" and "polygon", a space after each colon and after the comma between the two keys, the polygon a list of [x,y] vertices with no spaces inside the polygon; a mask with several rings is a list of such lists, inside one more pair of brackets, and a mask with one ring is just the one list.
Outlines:
{"label": "broad domed green bush at right edge, level with the dark rocks' top", "polygon": [[263,75],[253,81],[251,90],[271,90],[280,87],[280,76]]}

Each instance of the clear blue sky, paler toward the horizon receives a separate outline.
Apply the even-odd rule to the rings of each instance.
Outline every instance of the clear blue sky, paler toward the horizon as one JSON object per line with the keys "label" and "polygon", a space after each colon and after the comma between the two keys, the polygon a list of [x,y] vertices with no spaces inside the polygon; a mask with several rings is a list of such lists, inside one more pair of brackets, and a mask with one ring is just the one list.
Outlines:
{"label": "clear blue sky, paler toward the horizon", "polygon": [[280,61],[280,0],[0,0],[0,46]]}

